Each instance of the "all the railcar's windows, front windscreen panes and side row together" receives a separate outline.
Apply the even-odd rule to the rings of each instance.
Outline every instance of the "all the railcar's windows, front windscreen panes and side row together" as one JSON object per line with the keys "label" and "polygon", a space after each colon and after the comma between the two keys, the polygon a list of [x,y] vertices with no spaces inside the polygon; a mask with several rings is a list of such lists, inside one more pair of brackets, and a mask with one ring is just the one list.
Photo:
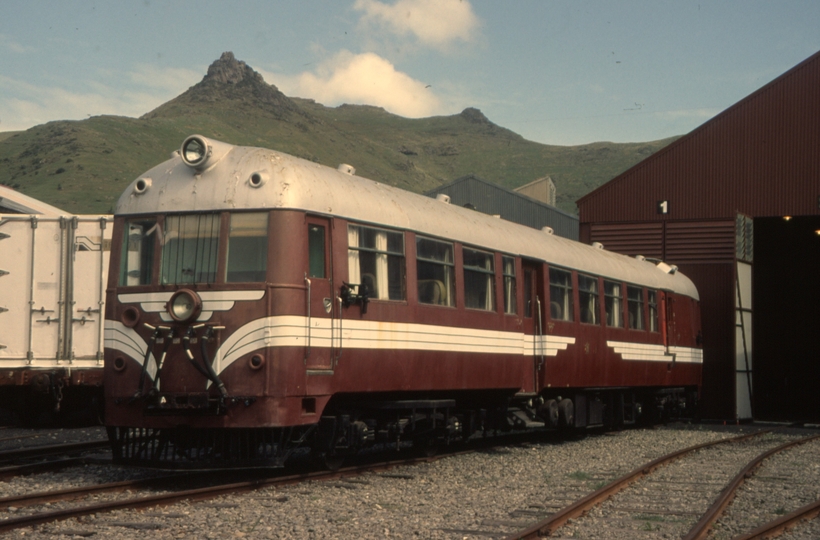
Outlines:
{"label": "all the railcar's windows, front windscreen panes and side row together", "polygon": [[[160,283],[191,284],[216,281],[219,253],[219,214],[169,215],[164,220],[137,218],[125,224],[120,259],[120,285],[148,285],[153,282],[155,243],[159,239]],[[263,282],[267,272],[268,214],[232,213],[228,217],[228,245],[224,281]],[[404,300],[404,233],[349,225],[348,281],[359,286],[358,293],[379,300]],[[309,272],[325,277],[325,228],[308,227]],[[496,311],[495,255],[470,247],[462,248],[464,305],[469,309]],[[502,255],[500,269],[503,311],[518,313],[516,303],[515,258]],[[455,246],[423,236],[416,237],[418,301],[422,304],[455,306]],[[524,293],[533,298],[529,272],[524,276]],[[549,269],[549,308],[553,320],[574,321],[572,273]],[[599,291],[599,283],[603,290]],[[623,290],[626,290],[626,310]],[[601,294],[603,293],[603,294]],[[600,321],[600,302],[604,320]],[[596,276],[578,274],[579,320],[585,324],[658,331],[658,295],[654,290],[626,285]],[[646,305],[646,310],[644,306]],[[624,320],[624,312],[628,321]],[[530,301],[525,316],[532,316]]]}

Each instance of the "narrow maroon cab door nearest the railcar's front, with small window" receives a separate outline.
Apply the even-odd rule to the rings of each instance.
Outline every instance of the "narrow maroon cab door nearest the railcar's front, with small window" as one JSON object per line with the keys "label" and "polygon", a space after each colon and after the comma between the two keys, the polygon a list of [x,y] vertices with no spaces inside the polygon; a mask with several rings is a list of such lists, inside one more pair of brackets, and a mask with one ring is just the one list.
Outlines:
{"label": "narrow maroon cab door nearest the railcar's front, with small window", "polygon": [[330,221],[308,216],[306,219],[308,260],[306,261],[306,344],[305,367],[308,371],[333,371],[335,339],[339,337],[335,317],[331,268]]}

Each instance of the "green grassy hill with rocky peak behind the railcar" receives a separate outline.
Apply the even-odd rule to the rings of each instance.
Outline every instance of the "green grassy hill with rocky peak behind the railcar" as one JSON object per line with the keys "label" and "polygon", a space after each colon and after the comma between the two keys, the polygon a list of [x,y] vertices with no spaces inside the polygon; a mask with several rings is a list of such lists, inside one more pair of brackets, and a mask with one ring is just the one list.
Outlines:
{"label": "green grassy hill with rocky peak behind the railcar", "polygon": [[550,146],[527,141],[477,109],[408,119],[361,105],[289,98],[230,53],[202,82],[141,118],[98,116],[0,133],[0,183],[75,213],[111,212],[140,173],[188,135],[273,148],[423,192],[467,174],[515,188],[547,174],[557,204],[575,201],[674,138]]}

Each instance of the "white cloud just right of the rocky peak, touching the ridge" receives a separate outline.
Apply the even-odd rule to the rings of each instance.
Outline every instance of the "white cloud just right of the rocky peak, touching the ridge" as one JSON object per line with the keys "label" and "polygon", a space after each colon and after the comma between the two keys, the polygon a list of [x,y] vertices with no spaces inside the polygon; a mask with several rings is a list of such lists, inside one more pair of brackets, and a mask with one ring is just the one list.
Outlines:
{"label": "white cloud just right of the rocky peak, touching the ridge", "polygon": [[425,83],[397,71],[393,64],[374,53],[342,51],[315,73],[262,74],[286,95],[314,99],[325,105],[375,105],[411,118],[442,113],[441,100]]}

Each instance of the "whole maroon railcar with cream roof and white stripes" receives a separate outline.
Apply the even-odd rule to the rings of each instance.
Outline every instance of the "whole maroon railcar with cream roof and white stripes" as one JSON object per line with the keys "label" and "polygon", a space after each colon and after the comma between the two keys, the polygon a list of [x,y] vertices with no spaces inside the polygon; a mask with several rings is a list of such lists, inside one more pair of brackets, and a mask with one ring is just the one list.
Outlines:
{"label": "whole maroon railcar with cream roof and white stripes", "polygon": [[698,295],[674,267],[348,166],[188,137],[120,198],[112,254],[122,462],[628,424],[691,409],[700,385]]}

